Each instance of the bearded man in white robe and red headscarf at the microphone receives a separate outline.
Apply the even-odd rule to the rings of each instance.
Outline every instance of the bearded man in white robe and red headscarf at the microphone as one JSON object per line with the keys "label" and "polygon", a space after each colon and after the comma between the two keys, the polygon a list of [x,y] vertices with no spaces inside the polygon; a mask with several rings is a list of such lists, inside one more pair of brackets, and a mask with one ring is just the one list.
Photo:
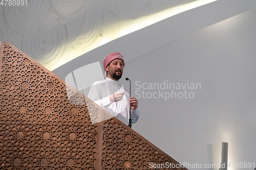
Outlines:
{"label": "bearded man in white robe and red headscarf at the microphone", "polygon": [[131,105],[131,123],[139,119],[138,100],[129,97],[129,93],[123,88],[119,79],[122,77],[124,68],[123,56],[120,53],[112,53],[103,60],[106,79],[93,83],[88,93],[88,98],[100,107],[129,125]]}

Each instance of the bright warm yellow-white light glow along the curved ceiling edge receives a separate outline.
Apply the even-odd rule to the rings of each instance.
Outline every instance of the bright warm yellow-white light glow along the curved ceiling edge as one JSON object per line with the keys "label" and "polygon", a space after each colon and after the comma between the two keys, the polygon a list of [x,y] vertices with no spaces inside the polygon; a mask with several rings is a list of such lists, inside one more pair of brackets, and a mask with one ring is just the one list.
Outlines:
{"label": "bright warm yellow-white light glow along the curved ceiling edge", "polygon": [[[132,20],[132,23],[130,25],[126,25],[123,29],[120,30],[112,30],[111,32],[105,33],[105,34],[100,34],[99,37],[97,38],[97,40],[91,44],[88,47],[84,47],[82,50],[78,50],[77,49],[69,49],[69,54],[65,53],[63,54],[63,56],[60,58],[60,61],[58,61],[57,63],[55,63],[54,65],[48,67],[46,65],[46,67],[50,70],[53,70],[103,44],[106,44],[114,39],[117,39],[119,37],[122,37],[124,35],[130,34],[132,32],[135,32],[137,30],[140,30],[142,28],[145,28],[147,26],[153,25],[156,22],[159,22],[163,19],[166,19],[168,17],[177,15],[179,13],[182,13],[184,11],[190,10],[190,9],[194,9],[200,6],[203,6],[205,4],[209,4],[211,2],[215,2],[217,0],[198,0],[198,1],[194,1],[191,3],[187,3],[187,4],[179,4],[177,6],[174,7],[170,7],[166,10],[157,12],[157,13],[153,13],[151,15],[148,16],[141,16],[138,18],[135,18]],[[93,34],[92,30],[92,34]],[[116,32],[115,32],[116,31]],[[117,33],[118,32],[118,33]],[[67,46],[71,46],[68,45]]]}

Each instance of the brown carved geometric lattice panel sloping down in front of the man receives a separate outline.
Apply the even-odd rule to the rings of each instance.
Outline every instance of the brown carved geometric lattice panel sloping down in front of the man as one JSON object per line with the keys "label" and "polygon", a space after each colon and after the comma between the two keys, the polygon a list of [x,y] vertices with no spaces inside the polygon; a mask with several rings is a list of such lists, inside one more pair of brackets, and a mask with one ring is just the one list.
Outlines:
{"label": "brown carved geometric lattice panel sloping down in front of the man", "polygon": [[0,44],[0,71],[0,169],[178,163],[9,43]]}

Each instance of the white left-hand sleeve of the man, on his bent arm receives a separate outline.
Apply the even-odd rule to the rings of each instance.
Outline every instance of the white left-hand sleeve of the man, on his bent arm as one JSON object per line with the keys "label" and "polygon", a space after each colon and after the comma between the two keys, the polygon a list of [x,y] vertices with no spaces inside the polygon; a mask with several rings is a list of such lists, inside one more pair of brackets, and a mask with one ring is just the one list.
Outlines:
{"label": "white left-hand sleeve of the man, on his bent arm", "polygon": [[100,107],[108,107],[112,103],[110,102],[109,96],[101,99],[101,88],[100,84],[95,84],[90,87],[88,98],[98,104]]}

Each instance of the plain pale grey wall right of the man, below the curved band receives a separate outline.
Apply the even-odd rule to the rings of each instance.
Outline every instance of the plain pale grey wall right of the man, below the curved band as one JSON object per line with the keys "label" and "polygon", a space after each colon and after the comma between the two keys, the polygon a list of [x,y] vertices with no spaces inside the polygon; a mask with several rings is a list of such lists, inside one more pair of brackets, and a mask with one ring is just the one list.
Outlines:
{"label": "plain pale grey wall right of the man, below the curved band", "polygon": [[[229,162],[255,162],[254,20],[256,10],[201,29],[130,61],[124,77],[133,80],[135,97],[143,90],[135,89],[139,88],[136,81],[140,85],[164,81],[201,83],[201,89],[186,89],[195,94],[193,99],[140,98],[142,114],[134,129],[181,162],[219,165],[221,142],[229,144]],[[141,91],[135,94],[135,90]],[[144,92],[149,92],[150,97],[150,93],[158,90]],[[169,89],[161,92],[171,93]]]}

